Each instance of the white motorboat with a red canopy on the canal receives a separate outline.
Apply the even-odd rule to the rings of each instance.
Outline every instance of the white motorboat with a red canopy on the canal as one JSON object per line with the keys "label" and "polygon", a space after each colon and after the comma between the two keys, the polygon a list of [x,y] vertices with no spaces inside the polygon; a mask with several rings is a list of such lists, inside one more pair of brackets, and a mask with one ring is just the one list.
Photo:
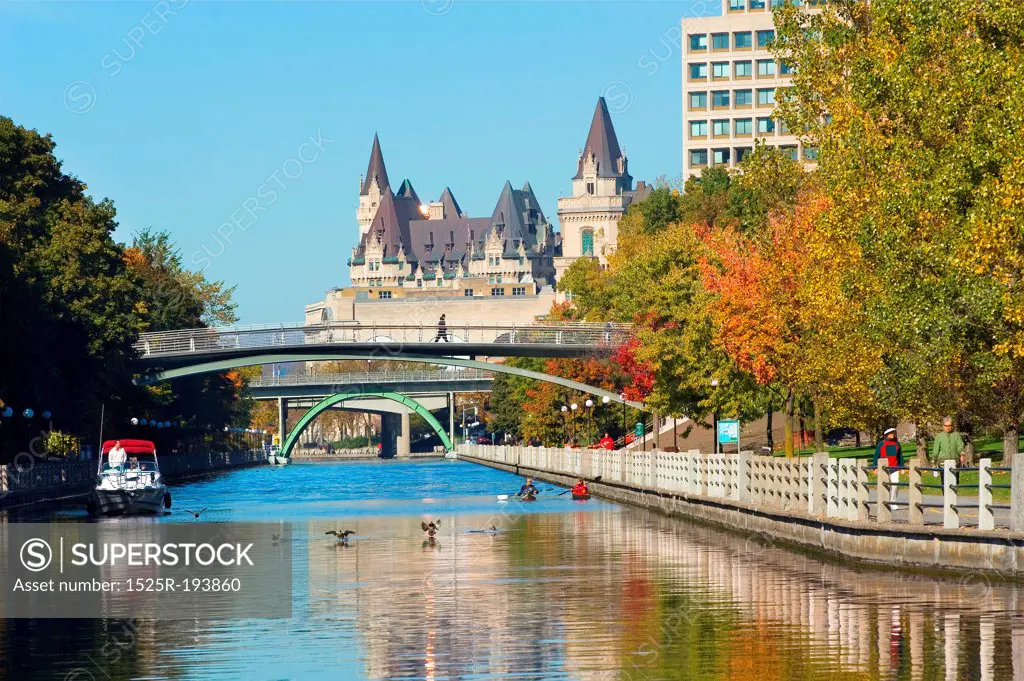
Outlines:
{"label": "white motorboat with a red canopy on the canal", "polygon": [[[111,452],[120,443],[123,456]],[[91,515],[155,515],[171,507],[160,474],[157,448],[150,440],[108,440],[100,449],[96,486],[89,495]]]}

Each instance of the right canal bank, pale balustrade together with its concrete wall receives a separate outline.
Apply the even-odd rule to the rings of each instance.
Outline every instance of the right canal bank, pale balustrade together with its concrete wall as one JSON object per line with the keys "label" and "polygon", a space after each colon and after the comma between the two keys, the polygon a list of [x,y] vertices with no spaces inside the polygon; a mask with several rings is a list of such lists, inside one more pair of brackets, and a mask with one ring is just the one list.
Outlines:
{"label": "right canal bank, pale balustrade together with its concrete wall", "polygon": [[[1024,578],[1024,533],[924,524],[923,511],[933,504],[921,501],[921,487],[908,500],[914,513],[907,513],[908,504],[900,511],[888,502],[885,483],[869,480],[867,468],[853,460],[472,444],[462,445],[460,457],[566,486],[584,477],[595,495],[611,501],[844,561]],[[921,473],[911,472],[920,484]],[[1012,491],[1015,501],[1020,486]],[[944,501],[966,515],[955,497]],[[872,506],[882,517],[878,510],[872,516]],[[900,522],[894,513],[922,522]]]}

